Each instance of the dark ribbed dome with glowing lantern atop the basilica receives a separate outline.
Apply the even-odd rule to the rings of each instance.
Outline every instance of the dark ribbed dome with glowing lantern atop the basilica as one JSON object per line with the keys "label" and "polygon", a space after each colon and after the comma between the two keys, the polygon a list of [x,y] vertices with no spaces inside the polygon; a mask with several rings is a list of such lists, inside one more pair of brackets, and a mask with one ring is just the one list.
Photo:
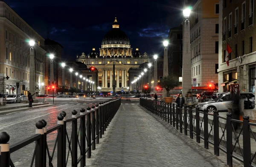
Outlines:
{"label": "dark ribbed dome with glowing lantern atop the basilica", "polygon": [[120,30],[119,23],[117,22],[116,18],[112,24],[112,30],[108,31],[102,40],[102,45],[111,44],[131,45],[125,32]]}

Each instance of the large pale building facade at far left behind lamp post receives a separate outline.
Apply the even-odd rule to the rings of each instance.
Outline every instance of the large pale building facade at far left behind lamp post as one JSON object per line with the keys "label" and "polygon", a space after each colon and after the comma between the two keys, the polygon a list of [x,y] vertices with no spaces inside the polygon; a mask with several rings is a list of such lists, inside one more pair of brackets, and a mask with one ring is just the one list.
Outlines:
{"label": "large pale building facade at far left behind lamp post", "polygon": [[0,9],[0,93],[28,93],[29,40],[35,40],[35,91],[44,92],[44,38],[5,2]]}

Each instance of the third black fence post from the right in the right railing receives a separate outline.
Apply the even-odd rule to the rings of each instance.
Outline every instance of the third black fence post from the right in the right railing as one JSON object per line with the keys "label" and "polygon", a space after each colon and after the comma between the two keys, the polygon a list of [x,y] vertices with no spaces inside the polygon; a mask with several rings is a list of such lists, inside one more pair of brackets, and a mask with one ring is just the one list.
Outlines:
{"label": "third black fence post from the right in the right railing", "polygon": [[214,154],[219,156],[219,124],[218,124],[218,110],[213,111],[213,137],[214,137]]}

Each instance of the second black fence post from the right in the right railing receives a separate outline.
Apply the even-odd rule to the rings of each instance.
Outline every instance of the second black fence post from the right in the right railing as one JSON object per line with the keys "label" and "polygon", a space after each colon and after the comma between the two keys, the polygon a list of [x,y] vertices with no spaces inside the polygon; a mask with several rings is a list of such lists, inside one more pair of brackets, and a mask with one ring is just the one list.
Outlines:
{"label": "second black fence post from the right in the right railing", "polygon": [[232,167],[232,113],[227,113],[227,164]]}

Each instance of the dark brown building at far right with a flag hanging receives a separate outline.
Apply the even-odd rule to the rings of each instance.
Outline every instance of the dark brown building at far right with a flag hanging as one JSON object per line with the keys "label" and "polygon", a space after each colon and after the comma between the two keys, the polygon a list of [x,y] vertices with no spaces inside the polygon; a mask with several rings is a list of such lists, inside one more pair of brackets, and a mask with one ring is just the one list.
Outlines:
{"label": "dark brown building at far right with a flag hanging", "polygon": [[[240,91],[255,92],[256,80],[256,9],[254,0],[220,0],[218,80],[219,92],[230,91],[239,83]],[[232,52],[226,63],[226,48]]]}

